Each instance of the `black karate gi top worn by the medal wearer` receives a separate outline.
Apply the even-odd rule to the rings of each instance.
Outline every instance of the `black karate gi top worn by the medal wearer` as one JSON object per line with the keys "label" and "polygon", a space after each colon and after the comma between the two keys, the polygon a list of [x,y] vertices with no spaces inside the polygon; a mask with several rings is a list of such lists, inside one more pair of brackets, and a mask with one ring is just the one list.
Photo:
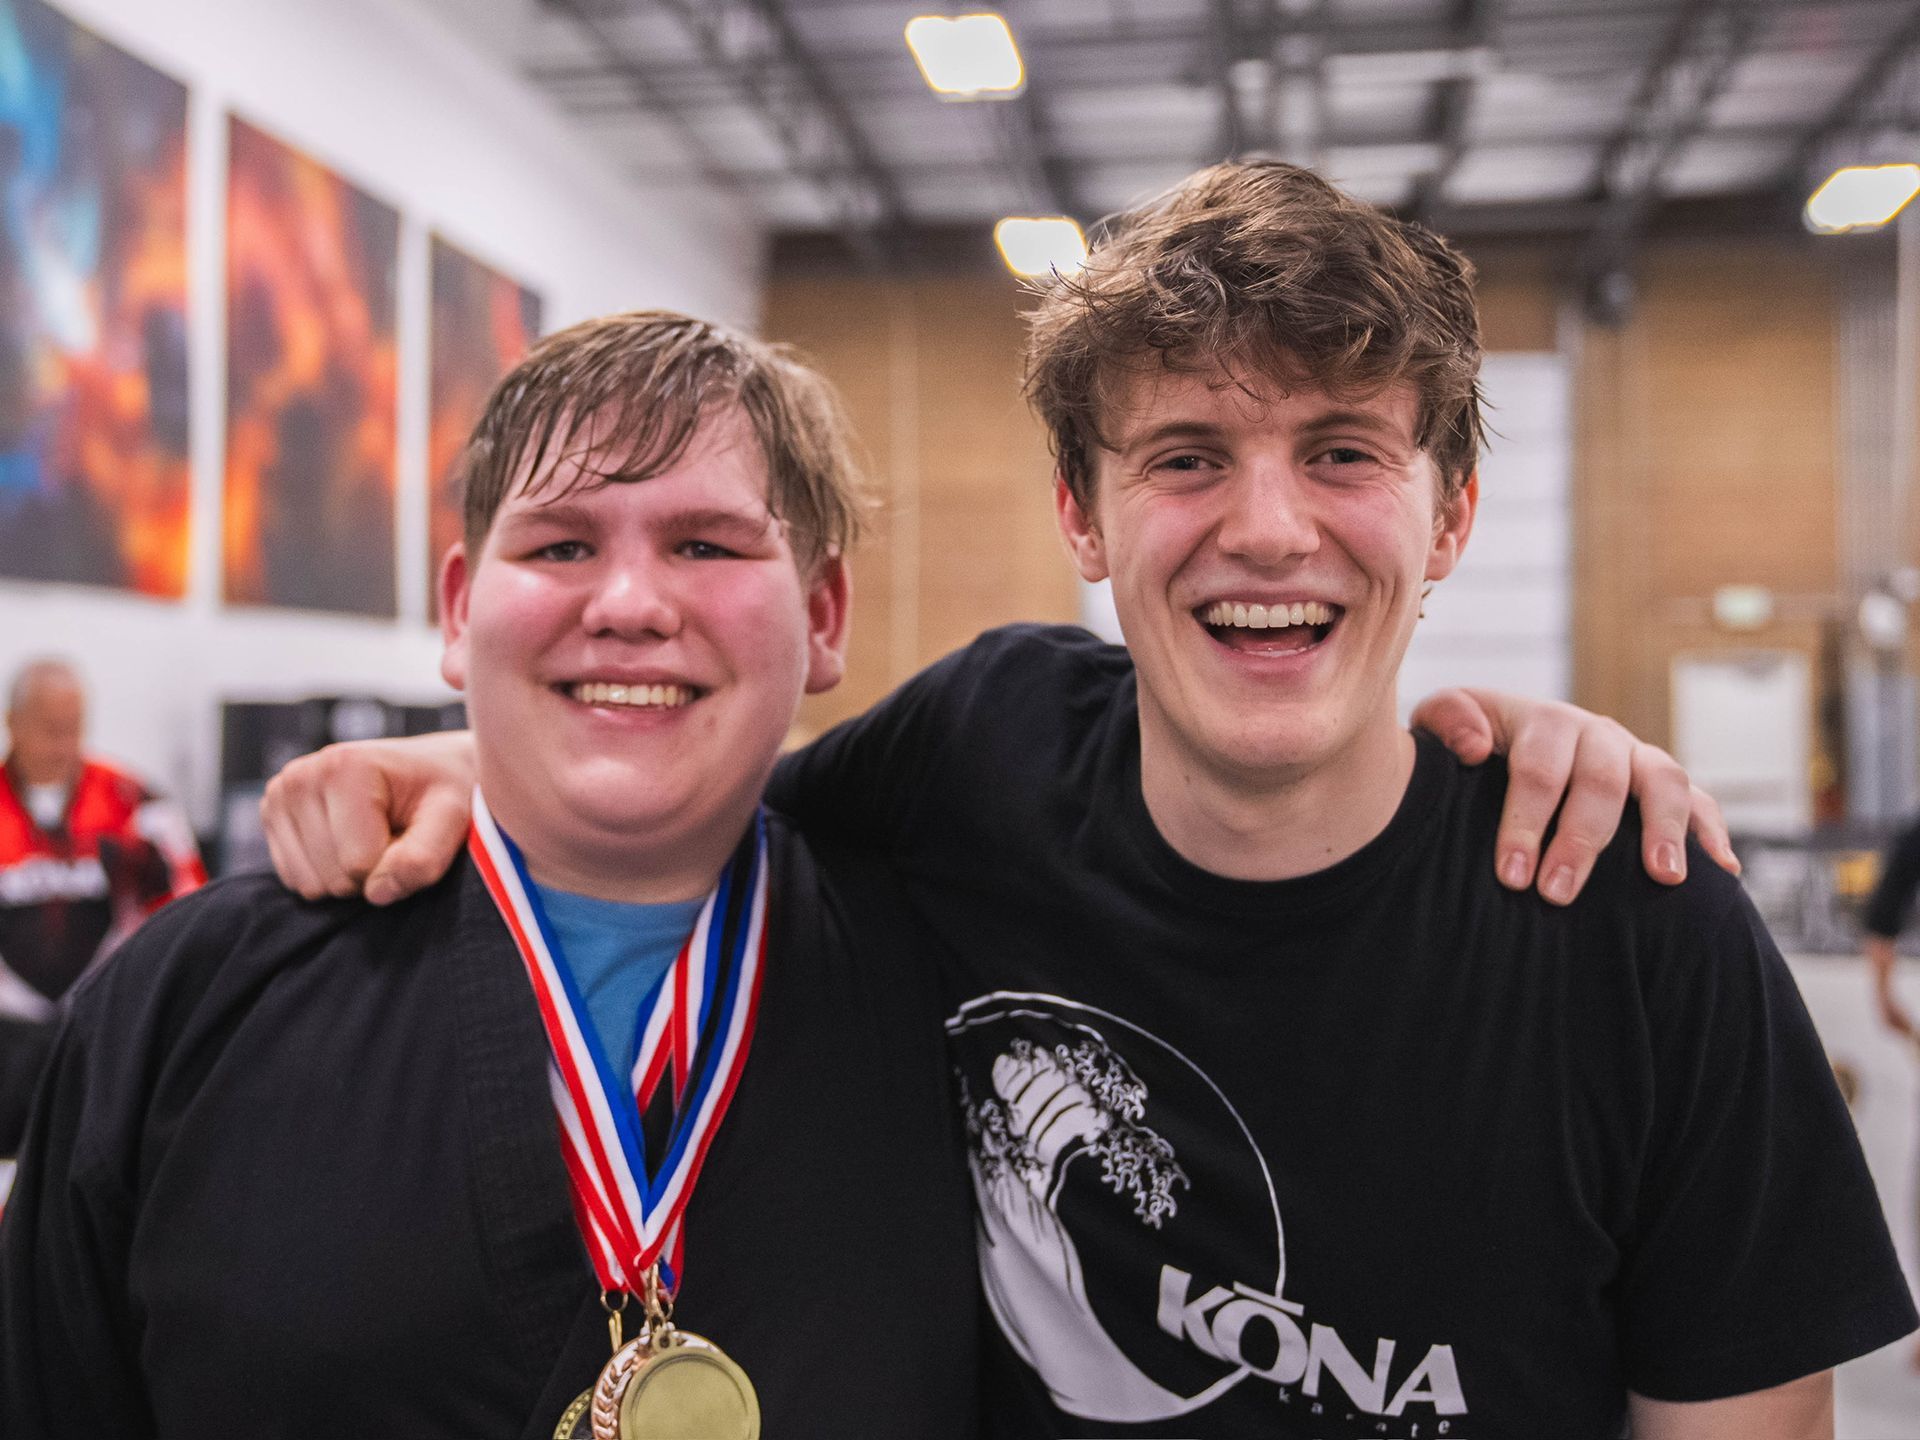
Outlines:
{"label": "black karate gi top worn by the medal wearer", "polygon": [[[770,1440],[966,1440],[937,995],[883,872],[768,829],[755,1044],[676,1319]],[[545,1440],[607,1357],[545,1035],[468,862],[394,910],[227,881],[75,991],[0,1221],[0,1434]]]}

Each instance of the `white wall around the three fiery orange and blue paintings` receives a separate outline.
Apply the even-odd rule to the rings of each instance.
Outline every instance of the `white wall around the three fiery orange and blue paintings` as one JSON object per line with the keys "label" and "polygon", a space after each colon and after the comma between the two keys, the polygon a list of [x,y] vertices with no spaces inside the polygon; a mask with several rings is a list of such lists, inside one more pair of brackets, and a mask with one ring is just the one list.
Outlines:
{"label": "white wall around the three fiery orange and blue paintings", "polygon": [[[764,234],[710,188],[645,194],[557,111],[409,0],[58,0],[190,86],[192,568],[184,601],[0,580],[0,676],[67,653],[94,749],[213,820],[219,701],[440,699],[426,626],[426,232],[545,298],[545,324],[666,305],[751,324]],[[221,607],[227,111],[401,211],[397,622]]]}

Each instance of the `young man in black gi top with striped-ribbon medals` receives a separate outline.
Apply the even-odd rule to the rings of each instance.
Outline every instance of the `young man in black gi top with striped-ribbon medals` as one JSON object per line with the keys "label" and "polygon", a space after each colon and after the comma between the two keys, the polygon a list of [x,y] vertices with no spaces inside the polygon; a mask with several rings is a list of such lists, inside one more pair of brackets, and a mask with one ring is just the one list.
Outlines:
{"label": "young man in black gi top with striped-ribbon medals", "polygon": [[966,1440],[937,993],[885,872],[760,808],[841,674],[831,396],[622,315],[467,465],[467,856],[390,910],[223,881],[81,987],[0,1221],[0,1434]]}

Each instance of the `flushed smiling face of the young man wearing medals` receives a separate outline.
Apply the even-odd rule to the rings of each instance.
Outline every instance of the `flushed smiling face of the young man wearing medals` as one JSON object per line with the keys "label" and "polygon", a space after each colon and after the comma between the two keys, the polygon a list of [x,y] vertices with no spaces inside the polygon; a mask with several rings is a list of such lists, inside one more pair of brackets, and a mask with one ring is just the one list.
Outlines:
{"label": "flushed smiling face of the young man wearing medals", "polygon": [[687,899],[726,862],[803,691],[839,682],[847,576],[801,568],[766,459],[714,407],[672,467],[515,484],[442,572],[442,674],[467,691],[480,785],[534,877]]}

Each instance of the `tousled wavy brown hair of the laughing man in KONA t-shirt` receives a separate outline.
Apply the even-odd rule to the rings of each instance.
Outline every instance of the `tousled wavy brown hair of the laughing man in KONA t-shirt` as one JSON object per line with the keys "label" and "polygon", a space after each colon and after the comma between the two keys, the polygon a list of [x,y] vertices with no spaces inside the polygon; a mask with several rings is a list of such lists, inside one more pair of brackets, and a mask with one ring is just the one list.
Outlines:
{"label": "tousled wavy brown hair of the laughing man in KONA t-shirt", "polygon": [[1480,455],[1480,317],[1473,265],[1277,159],[1210,165],[1104,221],[1087,265],[1052,276],[1027,317],[1025,392],[1060,478],[1092,505],[1102,420],[1142,371],[1215,369],[1371,396],[1419,392],[1417,442],[1442,501]]}

